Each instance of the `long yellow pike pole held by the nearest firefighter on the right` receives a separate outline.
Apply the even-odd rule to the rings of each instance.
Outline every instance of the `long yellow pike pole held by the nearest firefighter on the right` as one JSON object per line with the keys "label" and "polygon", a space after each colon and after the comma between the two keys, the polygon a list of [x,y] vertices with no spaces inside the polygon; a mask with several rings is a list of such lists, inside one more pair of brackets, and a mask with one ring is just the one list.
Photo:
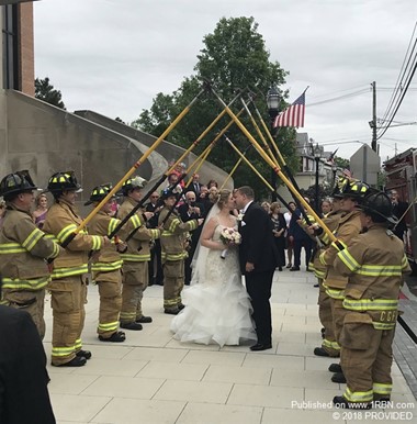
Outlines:
{"label": "long yellow pike pole held by the nearest firefighter on the right", "polygon": [[217,98],[219,103],[226,109],[228,115],[235,121],[236,125],[241,130],[241,132],[247,136],[250,143],[255,146],[258,153],[262,156],[266,163],[274,170],[274,172],[282,179],[289,190],[297,198],[300,203],[314,216],[315,221],[320,225],[324,232],[329,236],[331,242],[336,242],[337,238],[335,234],[326,226],[326,224],[322,221],[322,219],[316,214],[316,212],[312,209],[312,207],[304,200],[304,198],[298,193],[293,183],[282,174],[281,168],[273,163],[273,160],[263,152],[262,147],[259,143],[252,137],[249,131],[245,127],[245,125],[239,121],[239,119],[233,113],[233,111],[225,104],[225,102],[221,99],[221,97],[214,91],[213,87],[211,87],[212,93]]}

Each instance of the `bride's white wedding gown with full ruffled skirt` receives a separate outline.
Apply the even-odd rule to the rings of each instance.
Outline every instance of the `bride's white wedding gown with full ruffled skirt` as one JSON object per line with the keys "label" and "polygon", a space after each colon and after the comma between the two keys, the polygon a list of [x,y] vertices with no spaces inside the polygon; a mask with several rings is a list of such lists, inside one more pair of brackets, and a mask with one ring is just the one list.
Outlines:
{"label": "bride's white wedding gown with full ruffled skirt", "polygon": [[[215,227],[213,241],[221,241],[223,228],[221,224]],[[181,293],[185,309],[171,322],[173,337],[181,342],[224,346],[257,339],[237,247],[229,248],[225,259],[221,253],[208,249],[200,281]]]}

